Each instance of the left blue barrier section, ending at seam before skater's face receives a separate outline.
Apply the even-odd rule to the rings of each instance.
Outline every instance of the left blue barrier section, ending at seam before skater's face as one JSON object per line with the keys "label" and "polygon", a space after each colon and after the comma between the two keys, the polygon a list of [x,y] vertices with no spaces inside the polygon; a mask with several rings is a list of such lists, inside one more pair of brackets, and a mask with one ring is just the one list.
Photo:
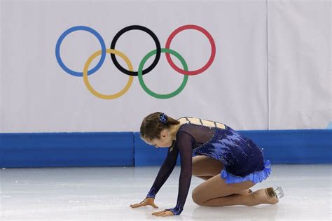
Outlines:
{"label": "left blue barrier section, ending at seam before skater's face", "polygon": [[132,165],[132,132],[0,134],[0,167]]}

